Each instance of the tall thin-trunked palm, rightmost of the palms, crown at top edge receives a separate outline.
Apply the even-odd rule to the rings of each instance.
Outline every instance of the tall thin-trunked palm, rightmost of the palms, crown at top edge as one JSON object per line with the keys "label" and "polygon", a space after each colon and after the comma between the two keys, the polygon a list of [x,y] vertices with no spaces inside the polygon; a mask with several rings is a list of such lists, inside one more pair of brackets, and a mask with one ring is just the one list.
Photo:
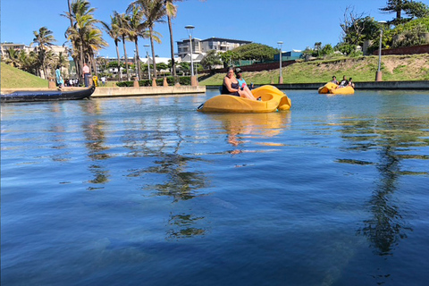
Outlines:
{"label": "tall thin-trunked palm, rightmost of the palms, crown at top edge", "polygon": [[154,62],[154,78],[156,79],[156,60],[154,47],[154,27],[156,22],[164,22],[165,6],[164,0],[136,0],[131,4],[138,5],[145,21],[143,25],[149,29],[150,46],[152,48],[152,59]]}

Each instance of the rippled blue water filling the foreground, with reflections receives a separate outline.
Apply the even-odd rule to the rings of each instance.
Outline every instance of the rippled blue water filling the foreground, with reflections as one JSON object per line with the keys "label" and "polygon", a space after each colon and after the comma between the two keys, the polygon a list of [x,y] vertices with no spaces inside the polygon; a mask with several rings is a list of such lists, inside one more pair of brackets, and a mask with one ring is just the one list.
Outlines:
{"label": "rippled blue water filling the foreground, with reflections", "polygon": [[1,107],[2,285],[425,285],[429,92]]}

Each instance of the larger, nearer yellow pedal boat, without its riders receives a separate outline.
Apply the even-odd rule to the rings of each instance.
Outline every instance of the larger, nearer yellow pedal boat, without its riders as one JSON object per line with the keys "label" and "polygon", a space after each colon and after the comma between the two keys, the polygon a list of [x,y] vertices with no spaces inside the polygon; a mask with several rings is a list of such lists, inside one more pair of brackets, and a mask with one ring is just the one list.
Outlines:
{"label": "larger, nearer yellow pedal boat, without its riders", "polygon": [[261,101],[231,95],[220,95],[208,99],[198,107],[198,111],[203,113],[263,114],[290,109],[290,98],[273,86],[266,85],[252,89],[252,94],[254,97],[261,97]]}

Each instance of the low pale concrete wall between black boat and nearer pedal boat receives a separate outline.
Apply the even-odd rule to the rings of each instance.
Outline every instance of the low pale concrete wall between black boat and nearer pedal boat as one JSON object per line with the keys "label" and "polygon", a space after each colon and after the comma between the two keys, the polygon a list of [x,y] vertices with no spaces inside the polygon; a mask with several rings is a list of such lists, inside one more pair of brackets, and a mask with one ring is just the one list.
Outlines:
{"label": "low pale concrete wall between black boat and nearer pedal boat", "polygon": [[146,97],[206,93],[205,86],[190,87],[140,87],[140,88],[96,88],[91,97]]}

